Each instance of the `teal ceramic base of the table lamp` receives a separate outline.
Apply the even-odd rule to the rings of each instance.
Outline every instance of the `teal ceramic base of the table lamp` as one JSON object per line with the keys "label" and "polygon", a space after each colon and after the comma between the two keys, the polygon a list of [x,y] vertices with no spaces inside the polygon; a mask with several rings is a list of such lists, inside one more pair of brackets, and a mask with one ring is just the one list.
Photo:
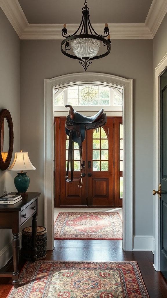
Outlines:
{"label": "teal ceramic base of the table lamp", "polygon": [[18,176],[14,179],[15,188],[18,191],[18,194],[27,195],[27,189],[29,187],[30,179],[26,173],[17,173]]}

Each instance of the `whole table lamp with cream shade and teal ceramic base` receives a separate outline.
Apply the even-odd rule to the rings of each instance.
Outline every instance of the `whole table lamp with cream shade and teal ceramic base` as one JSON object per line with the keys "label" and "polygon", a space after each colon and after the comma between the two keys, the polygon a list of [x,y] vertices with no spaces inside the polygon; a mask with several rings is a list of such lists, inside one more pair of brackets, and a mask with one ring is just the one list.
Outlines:
{"label": "whole table lamp with cream shade and teal ceramic base", "polygon": [[7,169],[8,171],[20,171],[17,172],[17,176],[14,178],[15,188],[18,194],[27,195],[27,189],[29,187],[30,179],[26,175],[28,170],[36,170],[29,160],[28,152],[15,152],[15,158],[11,166]]}

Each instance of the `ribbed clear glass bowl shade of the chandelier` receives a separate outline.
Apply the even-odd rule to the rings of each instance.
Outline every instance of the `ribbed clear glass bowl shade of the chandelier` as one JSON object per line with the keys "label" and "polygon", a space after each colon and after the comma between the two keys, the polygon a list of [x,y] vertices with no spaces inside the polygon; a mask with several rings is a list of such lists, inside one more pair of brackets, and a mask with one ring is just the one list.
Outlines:
{"label": "ribbed clear glass bowl shade of the chandelier", "polygon": [[94,38],[76,38],[71,42],[74,54],[83,60],[88,60],[97,55],[100,41]]}

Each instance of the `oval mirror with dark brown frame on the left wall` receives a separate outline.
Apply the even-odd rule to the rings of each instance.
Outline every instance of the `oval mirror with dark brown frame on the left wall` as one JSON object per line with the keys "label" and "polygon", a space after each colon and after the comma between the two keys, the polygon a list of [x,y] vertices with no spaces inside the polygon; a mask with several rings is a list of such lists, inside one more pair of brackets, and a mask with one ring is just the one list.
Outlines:
{"label": "oval mirror with dark brown frame on the left wall", "polygon": [[13,122],[10,111],[0,112],[0,169],[7,170],[13,153]]}

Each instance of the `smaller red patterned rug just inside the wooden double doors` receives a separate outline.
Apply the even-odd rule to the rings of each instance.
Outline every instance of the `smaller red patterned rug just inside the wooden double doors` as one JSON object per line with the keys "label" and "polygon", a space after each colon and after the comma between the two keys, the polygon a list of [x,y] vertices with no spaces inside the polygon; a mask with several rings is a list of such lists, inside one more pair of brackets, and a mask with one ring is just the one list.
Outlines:
{"label": "smaller red patterned rug just inside the wooden double doors", "polygon": [[54,239],[122,239],[118,212],[60,212],[54,224]]}

